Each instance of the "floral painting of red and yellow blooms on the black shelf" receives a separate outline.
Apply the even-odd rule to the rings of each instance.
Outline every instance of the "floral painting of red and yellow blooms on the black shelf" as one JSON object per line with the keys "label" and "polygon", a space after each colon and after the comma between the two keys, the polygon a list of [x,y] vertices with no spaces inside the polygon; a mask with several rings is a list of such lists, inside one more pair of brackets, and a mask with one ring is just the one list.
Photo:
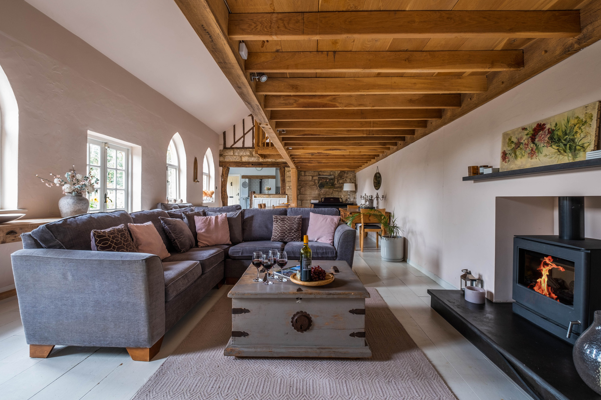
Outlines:
{"label": "floral painting of red and yellow blooms on the black shelf", "polygon": [[507,131],[501,142],[501,171],[586,160],[596,149],[599,101]]}

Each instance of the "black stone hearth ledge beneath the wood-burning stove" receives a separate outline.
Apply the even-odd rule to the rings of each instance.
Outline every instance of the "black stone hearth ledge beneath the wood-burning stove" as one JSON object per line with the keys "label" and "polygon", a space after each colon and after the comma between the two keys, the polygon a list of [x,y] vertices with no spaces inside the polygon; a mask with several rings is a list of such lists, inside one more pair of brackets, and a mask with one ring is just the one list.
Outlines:
{"label": "black stone hearth ledge beneath the wood-burning stove", "polygon": [[428,290],[430,306],[534,399],[601,400],[582,379],[572,345],[511,311],[474,304],[461,290]]}

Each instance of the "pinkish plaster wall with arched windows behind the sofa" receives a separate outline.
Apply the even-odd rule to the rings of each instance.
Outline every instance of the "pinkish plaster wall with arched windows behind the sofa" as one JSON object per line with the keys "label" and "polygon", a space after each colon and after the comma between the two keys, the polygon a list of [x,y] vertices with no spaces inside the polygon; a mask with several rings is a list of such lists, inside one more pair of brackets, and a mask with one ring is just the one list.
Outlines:
{"label": "pinkish plaster wall with arched windows behind the sofa", "polygon": [[[218,134],[22,0],[0,1],[0,65],[19,107],[12,168],[25,218],[59,216],[61,191],[35,174],[63,175],[73,164],[84,172],[88,130],[141,146],[142,209],[165,201],[166,149],[179,133],[188,170],[183,197],[202,203],[202,184],[192,182],[194,157],[202,168],[210,148],[217,169]],[[19,246],[0,245],[0,288],[13,285],[9,255]]]}

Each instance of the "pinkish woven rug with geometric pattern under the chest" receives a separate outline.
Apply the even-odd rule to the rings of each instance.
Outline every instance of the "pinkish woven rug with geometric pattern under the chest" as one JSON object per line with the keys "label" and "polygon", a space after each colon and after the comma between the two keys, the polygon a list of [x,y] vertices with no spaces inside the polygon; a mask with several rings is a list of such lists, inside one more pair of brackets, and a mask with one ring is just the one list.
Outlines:
{"label": "pinkish woven rug with geometric pattern under the chest", "polygon": [[133,399],[456,399],[380,294],[368,290],[371,359],[226,357],[231,299],[224,295]]}

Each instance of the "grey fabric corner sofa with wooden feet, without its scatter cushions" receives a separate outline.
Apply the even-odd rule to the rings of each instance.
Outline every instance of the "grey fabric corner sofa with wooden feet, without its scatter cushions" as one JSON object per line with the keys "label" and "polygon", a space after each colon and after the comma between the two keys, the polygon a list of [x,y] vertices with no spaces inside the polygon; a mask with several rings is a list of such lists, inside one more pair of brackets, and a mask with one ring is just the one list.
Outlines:
{"label": "grey fabric corner sofa with wooden feet, without its scatter cushions", "polygon": [[[234,212],[240,206],[203,209]],[[182,218],[185,210],[200,207],[82,214],[22,234],[23,250],[11,258],[30,356],[46,357],[53,345],[81,345],[126,347],[132,359],[148,361],[158,353],[165,332],[211,288],[224,278],[233,284],[242,276],[254,251],[284,249],[288,259],[299,257],[302,242],[270,240],[273,215],[302,215],[302,234],[311,212],[337,215],[335,209],[246,209],[241,243],[177,253],[159,217]],[[148,221],[170,257],[161,261],[153,254],[92,251],[91,230]],[[334,245],[310,246],[314,260],[344,260],[352,266],[355,230],[340,223]]]}

